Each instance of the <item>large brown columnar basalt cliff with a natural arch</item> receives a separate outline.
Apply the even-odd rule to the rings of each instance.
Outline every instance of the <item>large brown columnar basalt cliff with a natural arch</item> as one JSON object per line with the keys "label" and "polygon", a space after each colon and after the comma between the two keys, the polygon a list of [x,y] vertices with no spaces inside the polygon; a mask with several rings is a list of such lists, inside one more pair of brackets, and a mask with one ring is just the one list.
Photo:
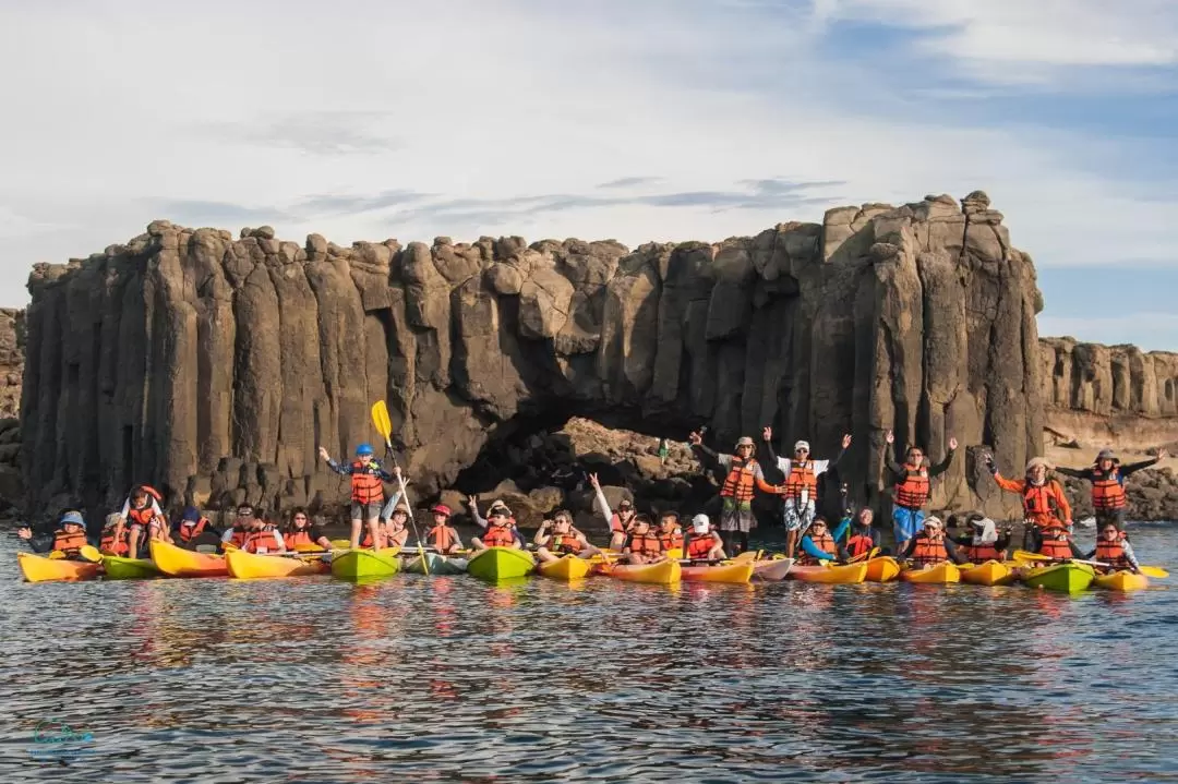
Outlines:
{"label": "large brown columnar basalt cliff with a natural arch", "polygon": [[[342,498],[317,463],[396,445],[426,497],[484,447],[569,416],[728,450],[772,424],[879,493],[885,431],[1021,465],[1043,445],[1041,297],[984,193],[828,211],[722,242],[437,238],[339,247],[154,221],[29,277],[33,510],[151,481],[179,501]],[[1013,513],[962,454],[934,506]]]}

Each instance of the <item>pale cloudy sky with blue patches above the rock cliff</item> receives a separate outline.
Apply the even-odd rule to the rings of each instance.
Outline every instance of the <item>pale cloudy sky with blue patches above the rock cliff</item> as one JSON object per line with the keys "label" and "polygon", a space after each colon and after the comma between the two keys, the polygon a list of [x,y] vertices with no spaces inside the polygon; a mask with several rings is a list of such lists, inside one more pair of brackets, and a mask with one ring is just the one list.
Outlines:
{"label": "pale cloudy sky with blue patches above the rock cliff", "polygon": [[0,0],[0,305],[153,219],[717,240],[981,188],[1044,335],[1178,351],[1172,0]]}

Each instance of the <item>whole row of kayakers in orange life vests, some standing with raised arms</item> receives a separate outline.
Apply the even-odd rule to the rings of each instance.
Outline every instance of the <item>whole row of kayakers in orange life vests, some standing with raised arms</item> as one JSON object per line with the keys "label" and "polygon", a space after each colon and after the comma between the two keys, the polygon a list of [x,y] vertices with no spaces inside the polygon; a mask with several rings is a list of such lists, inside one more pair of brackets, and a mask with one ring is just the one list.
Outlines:
{"label": "whole row of kayakers in orange life vests, some standing with raised arms", "polygon": [[[382,430],[388,444],[389,433],[386,427],[380,425],[376,407],[373,407],[373,420],[378,423],[378,428]],[[384,421],[386,423],[386,413]],[[802,574],[813,574],[815,582],[856,582],[832,579],[835,574],[832,567],[836,564],[868,564],[881,557],[889,557],[888,559],[896,564],[896,571],[900,571],[902,564],[904,571],[912,573],[913,582],[925,582],[919,579],[920,574],[933,574],[934,570],[935,574],[941,576],[955,573],[953,567],[958,565],[1007,562],[1011,546],[1010,531],[999,531],[993,520],[978,513],[967,514],[965,517],[967,533],[954,538],[947,534],[940,518],[925,513],[931,497],[931,481],[952,464],[958,446],[957,439],[951,438],[945,458],[937,465],[931,465],[925,452],[918,446],[907,447],[902,461],[889,459],[886,451],[895,439],[893,433],[886,434],[885,454],[881,458],[893,481],[892,521],[896,543],[894,552],[888,552],[880,545],[871,509],[853,512],[846,506],[843,498],[846,514],[835,526],[830,526],[829,521],[816,512],[818,478],[838,465],[851,445],[849,434],[843,436],[842,449],[830,460],[814,459],[810,456],[809,444],[805,440],[794,444],[792,457],[777,457],[772,447],[772,437],[773,431],[765,427],[762,431],[765,452],[783,478],[780,484],[769,484],[766,480],[765,471],[754,456],[756,445],[752,438],[739,439],[734,453],[723,454],[704,446],[701,433],[690,434],[689,443],[701,463],[706,466],[714,464],[722,474],[719,526],[713,526],[708,516],[700,513],[691,517],[690,524],[684,530],[677,512],[663,511],[656,521],[650,516],[636,512],[633,503],[626,499],[617,504],[616,511],[611,510],[596,474],[591,474],[589,479],[595,490],[597,511],[609,525],[608,547],[591,544],[588,537],[575,527],[573,513],[560,510],[545,519],[536,531],[531,542],[535,549],[532,554],[528,552],[528,545],[507,504],[496,500],[483,518],[474,497],[470,497],[470,516],[482,532],[471,539],[469,550],[464,547],[458,531],[451,525],[451,510],[442,504],[430,509],[432,526],[423,537],[416,532],[412,510],[405,501],[405,480],[401,467],[395,464],[391,469],[386,469],[376,458],[370,444],[360,444],[356,449],[355,459],[346,464],[337,463],[331,459],[326,450],[319,450],[319,456],[332,471],[351,480],[351,536],[348,540],[330,540],[311,523],[310,514],[302,507],[291,511],[286,525],[282,529],[258,514],[258,510],[251,504],[240,504],[236,510],[233,524],[224,531],[216,527],[196,507],[186,509],[180,519],[170,525],[160,509],[163,497],[152,487],[144,485],[135,487],[123,509],[107,518],[107,525],[99,540],[99,550],[100,554],[107,558],[134,562],[141,560],[148,553],[154,556],[157,550],[171,552],[174,549],[186,549],[205,552],[232,551],[247,556],[289,554],[304,560],[313,554],[323,557],[324,562],[335,563],[343,559],[349,564],[368,558],[375,559],[373,563],[388,565],[388,562],[406,547],[412,525],[417,540],[415,563],[423,571],[429,571],[431,564],[435,567],[454,566],[458,563],[474,564],[476,560],[485,564],[499,563],[505,558],[497,554],[494,558],[479,559],[479,556],[488,551],[517,551],[521,564],[527,562],[530,565],[538,560],[541,573],[547,569],[561,573],[588,573],[587,565],[568,565],[570,562],[580,560],[604,565],[610,571],[621,570],[621,573],[627,573],[627,570],[633,570],[635,574],[646,573],[651,571],[653,566],[674,562],[676,565],[686,564],[688,569],[700,567],[702,569],[699,571],[700,574],[719,574],[722,571],[720,566],[730,563],[732,558],[748,564],[765,562],[765,573],[785,574],[790,570],[789,565],[781,567],[777,564],[777,567],[770,571],[768,564],[788,560],[793,565],[795,576],[801,578]],[[1047,461],[1034,458],[1028,461],[1024,478],[1007,479],[998,472],[992,458],[987,456],[986,464],[998,486],[1023,497],[1025,518],[1032,532],[1033,552],[1018,551],[1015,556],[1031,564],[1035,562],[1084,564],[1093,576],[1097,570],[1139,574],[1141,566],[1124,531],[1126,500],[1124,481],[1133,471],[1152,465],[1164,457],[1165,452],[1159,451],[1157,458],[1121,466],[1114,454],[1104,450],[1088,469],[1061,470],[1063,473],[1081,477],[1092,483],[1098,538],[1093,550],[1085,553],[1074,540],[1071,507],[1059,483],[1051,478],[1051,466]],[[396,481],[398,486],[397,492],[388,499],[384,492],[386,481]],[[748,552],[748,534],[756,525],[752,510],[752,500],[756,492],[777,496],[783,501],[786,550],[773,559],[760,559]],[[48,552],[51,557],[58,559],[94,560],[95,553],[91,552],[93,547],[86,538],[85,521],[77,510],[66,511],[60,517],[58,530],[49,536],[34,537],[28,529],[19,530],[18,534],[27,539],[35,552]],[[369,553],[369,556],[360,558],[356,553]],[[469,562],[461,558],[462,556],[469,556]],[[239,554],[238,558],[244,556]],[[1043,566],[1043,563],[1038,565]],[[560,567],[557,564],[561,564]],[[749,570],[749,573],[756,571],[752,565]],[[491,571],[502,572],[498,566]],[[946,582],[955,580],[946,578]]]}

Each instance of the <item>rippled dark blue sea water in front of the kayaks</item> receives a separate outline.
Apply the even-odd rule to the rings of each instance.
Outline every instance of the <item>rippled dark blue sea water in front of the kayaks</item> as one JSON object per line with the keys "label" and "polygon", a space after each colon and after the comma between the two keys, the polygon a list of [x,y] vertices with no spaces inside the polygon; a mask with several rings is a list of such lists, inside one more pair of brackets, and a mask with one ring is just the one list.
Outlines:
{"label": "rippled dark blue sea water in front of the kayaks", "polygon": [[31,585],[16,547],[0,782],[1178,782],[1160,580]]}

